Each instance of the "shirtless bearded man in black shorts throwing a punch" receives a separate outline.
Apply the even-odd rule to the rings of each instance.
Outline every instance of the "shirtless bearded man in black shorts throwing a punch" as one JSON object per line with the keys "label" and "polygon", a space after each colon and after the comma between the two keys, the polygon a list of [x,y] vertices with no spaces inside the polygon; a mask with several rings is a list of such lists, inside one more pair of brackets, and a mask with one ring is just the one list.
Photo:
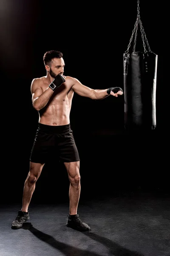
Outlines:
{"label": "shirtless bearded man in black shorts throwing a punch", "polygon": [[79,231],[90,230],[88,224],[82,222],[77,214],[81,189],[80,159],[70,126],[71,102],[74,92],[91,99],[104,99],[109,95],[115,97],[122,95],[123,91],[120,87],[94,90],[81,84],[76,78],[63,76],[65,63],[62,57],[63,54],[59,51],[45,52],[43,61],[47,71],[46,76],[33,79],[31,82],[32,104],[39,113],[39,123],[31,149],[30,169],[24,184],[22,209],[18,211],[17,218],[12,222],[12,229],[21,228],[23,222],[30,218],[28,206],[35,183],[40,177],[44,164],[54,154],[58,154],[70,181],[70,206],[66,225]]}

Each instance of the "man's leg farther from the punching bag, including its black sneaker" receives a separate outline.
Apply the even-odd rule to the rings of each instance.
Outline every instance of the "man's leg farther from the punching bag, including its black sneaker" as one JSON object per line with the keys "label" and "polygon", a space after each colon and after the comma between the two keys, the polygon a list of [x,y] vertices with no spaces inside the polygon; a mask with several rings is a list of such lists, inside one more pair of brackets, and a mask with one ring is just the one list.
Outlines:
{"label": "man's leg farther from the punching bag, including its black sneaker", "polygon": [[17,218],[11,224],[12,229],[18,229],[22,227],[23,223],[29,219],[28,206],[35,189],[35,183],[40,177],[43,166],[44,164],[41,163],[30,162],[30,170],[24,183],[23,206],[22,209],[18,211]]}

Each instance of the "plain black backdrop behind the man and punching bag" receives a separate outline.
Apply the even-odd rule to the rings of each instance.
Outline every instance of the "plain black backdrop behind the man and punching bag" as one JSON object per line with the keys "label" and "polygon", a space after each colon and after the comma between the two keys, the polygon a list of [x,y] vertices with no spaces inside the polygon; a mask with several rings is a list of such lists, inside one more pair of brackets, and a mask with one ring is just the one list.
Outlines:
{"label": "plain black backdrop behind the man and punching bag", "polygon": [[[100,101],[74,94],[70,122],[81,158],[82,198],[136,190],[166,191],[162,3],[141,1],[140,16],[151,50],[158,55],[156,131],[125,137],[124,98]],[[46,51],[63,53],[65,76],[94,89],[123,88],[123,53],[137,17],[137,1],[11,1],[1,8],[1,172],[5,202],[21,202],[38,124],[30,85],[45,76]],[[138,29],[136,50],[143,51]],[[146,92],[147,93],[147,92]],[[68,176],[52,156],[32,201],[68,200]]]}

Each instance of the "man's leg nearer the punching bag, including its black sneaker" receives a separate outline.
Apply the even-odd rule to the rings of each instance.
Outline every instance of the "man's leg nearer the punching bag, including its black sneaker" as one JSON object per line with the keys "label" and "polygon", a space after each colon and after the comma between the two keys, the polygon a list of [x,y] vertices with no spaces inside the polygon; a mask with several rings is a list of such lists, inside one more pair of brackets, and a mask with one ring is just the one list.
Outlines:
{"label": "man's leg nearer the punching bag, including its black sneaker", "polygon": [[90,230],[88,224],[82,222],[77,214],[77,207],[79,204],[79,196],[80,196],[80,174],[79,174],[79,161],[64,163],[65,168],[68,172],[68,178],[70,180],[70,188],[69,188],[69,198],[70,198],[70,208],[69,208],[69,216],[67,220],[67,227],[71,227],[73,229],[79,231]]}

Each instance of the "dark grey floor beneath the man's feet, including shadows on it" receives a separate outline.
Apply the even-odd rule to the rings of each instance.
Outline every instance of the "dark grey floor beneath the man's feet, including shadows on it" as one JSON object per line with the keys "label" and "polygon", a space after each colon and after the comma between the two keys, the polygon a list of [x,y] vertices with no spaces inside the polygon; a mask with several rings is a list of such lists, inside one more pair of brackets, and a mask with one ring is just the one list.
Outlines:
{"label": "dark grey floor beneath the man's feet, including shadows on it", "polygon": [[170,256],[170,195],[118,193],[80,199],[79,217],[91,231],[66,227],[68,201],[32,203],[19,230],[11,222],[20,204],[0,211],[0,256]]}

